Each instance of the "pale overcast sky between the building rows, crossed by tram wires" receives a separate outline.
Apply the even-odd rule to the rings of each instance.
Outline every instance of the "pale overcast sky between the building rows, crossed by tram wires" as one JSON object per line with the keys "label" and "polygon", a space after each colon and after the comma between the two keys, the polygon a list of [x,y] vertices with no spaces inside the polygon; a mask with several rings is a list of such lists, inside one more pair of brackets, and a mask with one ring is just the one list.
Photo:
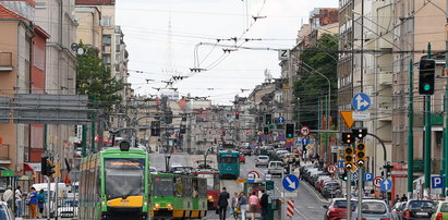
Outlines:
{"label": "pale overcast sky between the building rows, crossed by tram wires", "polygon": [[[129,82],[136,94],[158,95],[157,88],[166,87],[160,81],[189,76],[172,85],[180,96],[190,93],[230,105],[237,94],[247,96],[242,89],[252,90],[263,83],[266,69],[274,77],[280,76],[278,53],[244,49],[225,53],[215,46],[217,39],[237,37],[239,46],[289,49],[314,8],[337,7],[338,0],[120,0],[116,22],[124,33]],[[252,16],[265,19],[254,22]],[[210,45],[198,47],[197,66],[194,51],[201,42]],[[219,44],[233,46],[234,41]],[[191,68],[207,71],[191,73]]]}

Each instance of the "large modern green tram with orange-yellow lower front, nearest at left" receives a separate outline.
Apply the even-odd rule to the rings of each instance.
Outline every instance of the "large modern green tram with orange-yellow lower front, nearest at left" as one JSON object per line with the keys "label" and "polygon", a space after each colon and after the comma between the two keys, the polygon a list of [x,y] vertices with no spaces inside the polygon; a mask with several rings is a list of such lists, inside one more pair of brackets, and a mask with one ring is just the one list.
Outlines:
{"label": "large modern green tram with orange-yellow lower front, nearest at left", "polygon": [[142,148],[113,147],[83,158],[78,218],[148,218],[148,169],[149,156]]}

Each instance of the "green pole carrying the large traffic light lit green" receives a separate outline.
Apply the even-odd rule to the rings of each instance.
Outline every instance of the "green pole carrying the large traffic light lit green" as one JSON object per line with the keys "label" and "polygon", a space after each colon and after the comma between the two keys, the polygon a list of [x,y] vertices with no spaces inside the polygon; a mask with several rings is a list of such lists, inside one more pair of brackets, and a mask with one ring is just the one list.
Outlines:
{"label": "green pole carrying the large traffic light lit green", "polygon": [[[427,59],[431,59],[431,42],[427,44]],[[428,198],[431,193],[431,96],[426,96],[425,111],[425,190],[424,197]]]}

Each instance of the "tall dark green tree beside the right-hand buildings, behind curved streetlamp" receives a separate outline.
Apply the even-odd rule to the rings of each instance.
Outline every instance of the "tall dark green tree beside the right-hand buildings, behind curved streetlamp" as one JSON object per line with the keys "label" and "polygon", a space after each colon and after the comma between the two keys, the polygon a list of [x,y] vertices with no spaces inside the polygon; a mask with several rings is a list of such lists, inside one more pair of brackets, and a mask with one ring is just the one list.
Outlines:
{"label": "tall dark green tree beside the right-hand buildings, behind curved streetlamp", "polygon": [[[300,65],[300,80],[294,82],[293,93],[300,98],[296,118],[302,125],[317,129],[318,125],[318,97],[325,107],[325,97],[328,94],[328,82],[316,71],[327,76],[331,84],[331,115],[335,112],[337,95],[337,59],[338,39],[334,35],[323,34],[315,46],[306,48],[300,56],[303,64]],[[310,65],[311,68],[306,66]],[[323,108],[325,110],[325,108]],[[325,115],[325,111],[324,111]],[[335,118],[334,118],[335,123]]]}

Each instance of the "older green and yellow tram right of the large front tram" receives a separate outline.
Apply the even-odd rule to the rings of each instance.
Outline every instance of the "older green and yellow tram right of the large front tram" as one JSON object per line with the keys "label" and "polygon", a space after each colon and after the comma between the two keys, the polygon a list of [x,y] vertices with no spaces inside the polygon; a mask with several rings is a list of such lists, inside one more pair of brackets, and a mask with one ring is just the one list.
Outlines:
{"label": "older green and yellow tram right of the large front tram", "polygon": [[154,219],[202,219],[207,216],[207,180],[189,174],[152,174]]}

